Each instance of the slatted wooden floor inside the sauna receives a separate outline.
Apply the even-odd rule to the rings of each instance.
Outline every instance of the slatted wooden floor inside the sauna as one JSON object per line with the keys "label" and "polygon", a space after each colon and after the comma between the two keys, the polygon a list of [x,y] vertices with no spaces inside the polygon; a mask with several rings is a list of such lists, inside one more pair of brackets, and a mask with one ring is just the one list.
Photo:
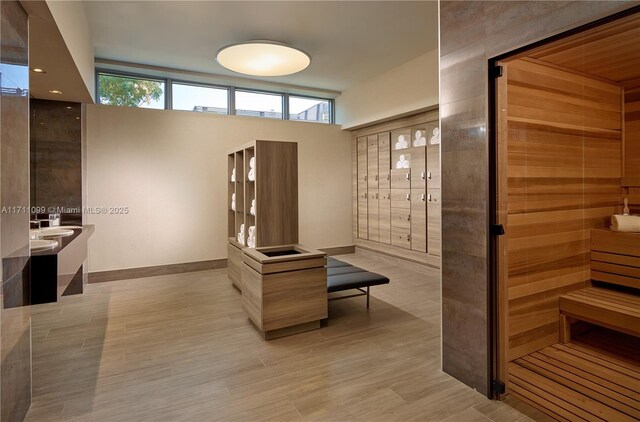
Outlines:
{"label": "slatted wooden floor inside the sauna", "polygon": [[595,330],[516,359],[509,364],[511,393],[558,420],[640,420],[640,341],[615,341],[620,336]]}

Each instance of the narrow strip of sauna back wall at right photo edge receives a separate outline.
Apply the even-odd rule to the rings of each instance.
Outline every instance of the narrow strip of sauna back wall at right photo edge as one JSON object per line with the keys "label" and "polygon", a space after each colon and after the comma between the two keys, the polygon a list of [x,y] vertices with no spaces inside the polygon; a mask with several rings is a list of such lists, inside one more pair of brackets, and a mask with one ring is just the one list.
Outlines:
{"label": "narrow strip of sauna back wall at right photo edge", "polygon": [[624,92],[624,177],[640,179],[640,86]]}

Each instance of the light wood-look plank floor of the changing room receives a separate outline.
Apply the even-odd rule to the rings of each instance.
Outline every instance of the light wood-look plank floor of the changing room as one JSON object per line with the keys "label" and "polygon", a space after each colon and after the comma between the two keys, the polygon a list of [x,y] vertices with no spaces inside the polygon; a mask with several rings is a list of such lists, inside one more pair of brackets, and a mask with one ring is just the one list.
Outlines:
{"label": "light wood-look plank floor of the changing room", "polygon": [[320,330],[263,341],[226,270],[92,284],[33,307],[27,421],[526,421],[440,370],[438,270],[329,303]]}

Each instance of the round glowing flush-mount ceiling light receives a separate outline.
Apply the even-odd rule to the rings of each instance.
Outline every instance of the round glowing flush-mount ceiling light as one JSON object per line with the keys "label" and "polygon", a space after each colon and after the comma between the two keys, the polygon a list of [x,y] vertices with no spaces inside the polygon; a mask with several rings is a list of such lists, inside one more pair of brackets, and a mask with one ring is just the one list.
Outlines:
{"label": "round glowing flush-mount ceiling light", "polygon": [[216,60],[233,72],[251,76],[291,75],[311,63],[304,51],[274,41],[229,45],[218,50]]}

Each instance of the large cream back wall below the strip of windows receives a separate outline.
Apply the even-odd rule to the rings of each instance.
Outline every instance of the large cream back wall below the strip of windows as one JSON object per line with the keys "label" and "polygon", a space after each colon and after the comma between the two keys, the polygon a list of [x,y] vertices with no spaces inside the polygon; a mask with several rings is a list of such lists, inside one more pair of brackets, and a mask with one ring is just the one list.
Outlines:
{"label": "large cream back wall below the strip of windows", "polygon": [[226,258],[227,153],[297,141],[300,242],[352,245],[350,134],[336,125],[88,105],[89,271]]}

